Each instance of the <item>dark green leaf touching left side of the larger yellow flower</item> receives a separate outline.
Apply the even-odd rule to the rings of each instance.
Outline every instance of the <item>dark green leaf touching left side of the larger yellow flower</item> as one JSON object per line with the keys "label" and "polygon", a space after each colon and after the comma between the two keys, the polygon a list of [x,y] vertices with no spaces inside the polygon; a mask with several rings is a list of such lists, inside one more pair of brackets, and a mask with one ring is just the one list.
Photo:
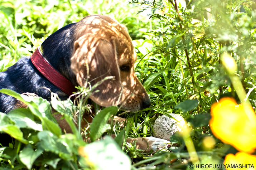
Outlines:
{"label": "dark green leaf touching left side of the larger yellow flower", "polygon": [[211,114],[199,114],[189,117],[188,122],[190,122],[194,128],[207,126],[209,120],[211,119]]}

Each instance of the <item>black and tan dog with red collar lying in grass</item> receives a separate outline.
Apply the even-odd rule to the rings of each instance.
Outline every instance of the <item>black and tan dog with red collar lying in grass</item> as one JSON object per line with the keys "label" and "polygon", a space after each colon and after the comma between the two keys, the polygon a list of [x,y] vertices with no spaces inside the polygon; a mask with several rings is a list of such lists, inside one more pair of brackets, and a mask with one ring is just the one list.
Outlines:
{"label": "black and tan dog with red collar lying in grass", "polygon": [[[57,30],[44,40],[31,57],[23,57],[0,73],[0,89],[18,93],[34,93],[50,100],[51,92],[62,100],[76,89],[99,84],[90,99],[100,106],[119,106],[121,110],[138,112],[151,105],[145,88],[134,71],[136,52],[127,28],[105,15],[86,16],[77,23]],[[112,77],[106,79],[106,77]],[[43,87],[43,88],[42,88]],[[19,100],[0,93],[0,111],[26,107]],[[71,132],[61,115],[54,115],[59,126]],[[91,122],[85,117],[87,122]],[[122,118],[116,118],[124,122]],[[87,123],[83,123],[85,126]],[[154,137],[127,139],[136,141],[145,152],[166,148],[169,141]]]}

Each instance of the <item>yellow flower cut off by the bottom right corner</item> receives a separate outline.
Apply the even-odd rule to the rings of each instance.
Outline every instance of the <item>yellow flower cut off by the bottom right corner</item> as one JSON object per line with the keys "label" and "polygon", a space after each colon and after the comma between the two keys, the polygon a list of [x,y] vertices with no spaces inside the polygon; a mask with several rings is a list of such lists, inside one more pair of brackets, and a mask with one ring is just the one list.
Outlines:
{"label": "yellow flower cut off by the bottom right corner", "polygon": [[[237,152],[236,155],[228,154],[224,160],[223,165],[227,170],[234,169],[234,166],[243,169],[250,169],[252,167],[256,167],[256,156],[246,154],[244,152]],[[233,168],[232,168],[233,166]],[[253,168],[253,169],[254,169]]]}

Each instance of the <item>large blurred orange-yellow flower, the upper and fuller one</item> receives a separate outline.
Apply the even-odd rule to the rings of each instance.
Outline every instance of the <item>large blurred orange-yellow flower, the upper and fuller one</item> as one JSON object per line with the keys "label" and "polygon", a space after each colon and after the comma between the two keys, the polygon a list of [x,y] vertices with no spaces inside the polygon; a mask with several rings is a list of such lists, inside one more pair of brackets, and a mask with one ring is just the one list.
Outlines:
{"label": "large blurred orange-yellow flower, the upper and fuller one", "polygon": [[212,105],[211,115],[213,135],[239,151],[252,153],[256,149],[256,116],[251,106],[225,97]]}

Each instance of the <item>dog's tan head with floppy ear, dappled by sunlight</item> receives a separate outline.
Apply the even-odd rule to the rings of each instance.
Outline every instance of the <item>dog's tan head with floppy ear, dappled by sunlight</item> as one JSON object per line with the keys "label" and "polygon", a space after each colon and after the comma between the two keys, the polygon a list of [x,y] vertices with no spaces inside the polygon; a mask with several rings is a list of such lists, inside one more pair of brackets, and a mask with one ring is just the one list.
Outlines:
{"label": "dog's tan head with floppy ear, dappled by sunlight", "polygon": [[135,74],[137,57],[124,25],[108,16],[91,15],[77,23],[74,36],[71,68],[79,86],[97,84],[90,96],[94,102],[131,112],[151,105]]}

